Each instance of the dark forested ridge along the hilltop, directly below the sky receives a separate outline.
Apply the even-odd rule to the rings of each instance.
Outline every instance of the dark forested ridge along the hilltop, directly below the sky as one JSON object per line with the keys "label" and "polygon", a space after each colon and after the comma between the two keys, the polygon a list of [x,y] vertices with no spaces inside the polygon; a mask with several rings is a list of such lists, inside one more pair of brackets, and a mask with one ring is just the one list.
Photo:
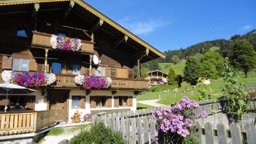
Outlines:
{"label": "dark forested ridge along the hilltop, directly below the sky", "polygon": [[[195,45],[191,45],[186,47],[186,49],[179,49],[179,50],[168,50],[164,53],[166,54],[166,58],[158,58],[155,60],[151,60],[150,62],[146,62],[141,66],[141,74],[142,77],[147,77],[148,71],[153,71],[156,69],[160,69],[159,63],[173,63],[177,64],[181,62],[181,58],[185,56],[194,56],[199,61],[205,54],[209,54],[208,52],[214,52],[220,54],[220,57],[231,58],[233,55],[234,45],[239,40],[247,40],[251,43],[254,51],[256,51],[256,30],[251,30],[250,32],[240,36],[236,34],[235,36],[231,36],[229,40],[220,39],[220,40],[211,40],[206,42],[197,43]],[[253,51],[253,50],[252,50]],[[208,64],[205,63],[206,66]],[[160,69],[161,70],[161,69]],[[134,77],[138,78],[138,67],[134,67]]]}

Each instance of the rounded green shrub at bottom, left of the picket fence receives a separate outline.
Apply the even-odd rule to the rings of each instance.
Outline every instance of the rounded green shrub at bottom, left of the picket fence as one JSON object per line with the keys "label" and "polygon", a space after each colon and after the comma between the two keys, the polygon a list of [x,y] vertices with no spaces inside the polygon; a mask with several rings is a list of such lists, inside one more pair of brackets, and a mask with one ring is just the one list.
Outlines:
{"label": "rounded green shrub at bottom, left of the picket fence", "polygon": [[71,144],[101,144],[101,143],[116,143],[124,144],[120,132],[112,132],[111,128],[107,128],[102,122],[92,126],[89,130],[81,131],[80,134],[70,140]]}

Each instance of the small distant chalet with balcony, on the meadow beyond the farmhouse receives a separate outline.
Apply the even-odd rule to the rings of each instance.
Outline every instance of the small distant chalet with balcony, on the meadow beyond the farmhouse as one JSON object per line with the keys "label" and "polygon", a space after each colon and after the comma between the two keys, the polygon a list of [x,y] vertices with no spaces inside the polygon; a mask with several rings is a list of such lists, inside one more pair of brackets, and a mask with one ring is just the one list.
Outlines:
{"label": "small distant chalet with balcony, on the meadow beyond the farmhouse", "polygon": [[165,86],[167,84],[167,73],[164,73],[159,70],[155,71],[149,71],[148,77],[146,77],[146,80],[149,80],[149,87],[151,86]]}

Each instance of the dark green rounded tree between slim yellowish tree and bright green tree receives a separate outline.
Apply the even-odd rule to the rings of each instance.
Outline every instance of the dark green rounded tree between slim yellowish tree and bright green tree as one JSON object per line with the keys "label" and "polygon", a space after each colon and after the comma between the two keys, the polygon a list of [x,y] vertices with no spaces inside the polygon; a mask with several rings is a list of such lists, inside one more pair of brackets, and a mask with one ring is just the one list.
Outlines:
{"label": "dark green rounded tree between slim yellowish tree and bright green tree", "polygon": [[198,78],[201,77],[201,64],[199,63],[198,58],[190,56],[186,61],[183,73],[183,80],[185,82],[188,82],[191,85],[196,85]]}

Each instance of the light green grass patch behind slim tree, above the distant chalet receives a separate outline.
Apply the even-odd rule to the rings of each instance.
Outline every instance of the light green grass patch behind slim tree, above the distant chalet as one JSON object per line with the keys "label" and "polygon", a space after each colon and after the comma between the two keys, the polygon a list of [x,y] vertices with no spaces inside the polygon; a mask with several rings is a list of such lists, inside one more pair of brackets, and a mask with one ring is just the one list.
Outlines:
{"label": "light green grass patch behind slim tree, above the distant chalet", "polygon": [[182,75],[183,76],[183,69],[185,67],[186,60],[179,62],[178,64],[172,64],[172,63],[159,63],[160,66],[160,71],[163,71],[164,73],[169,72],[170,65],[173,66],[175,69],[177,75]]}

